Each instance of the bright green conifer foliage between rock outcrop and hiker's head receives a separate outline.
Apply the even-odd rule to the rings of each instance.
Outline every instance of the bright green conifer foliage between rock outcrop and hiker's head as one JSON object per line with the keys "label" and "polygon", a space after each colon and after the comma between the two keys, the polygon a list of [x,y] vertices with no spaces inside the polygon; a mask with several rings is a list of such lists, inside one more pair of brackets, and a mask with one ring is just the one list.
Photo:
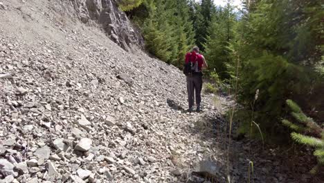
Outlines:
{"label": "bright green conifer foliage between rock outcrop and hiker's head", "polygon": [[145,0],[140,8],[141,11],[134,11],[133,19],[142,28],[146,49],[181,68],[186,53],[195,44],[188,2]]}

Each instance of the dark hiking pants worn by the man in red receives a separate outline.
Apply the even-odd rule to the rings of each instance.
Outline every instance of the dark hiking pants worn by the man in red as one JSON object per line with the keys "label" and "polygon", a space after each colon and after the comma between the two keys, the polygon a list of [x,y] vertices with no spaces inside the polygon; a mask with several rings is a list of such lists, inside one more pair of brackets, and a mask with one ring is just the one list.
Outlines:
{"label": "dark hiking pants worn by the man in red", "polygon": [[195,94],[196,94],[196,105],[200,106],[201,103],[201,88],[202,88],[202,76],[200,73],[192,76],[187,76],[187,91],[188,91],[188,103],[189,109],[192,108]]}

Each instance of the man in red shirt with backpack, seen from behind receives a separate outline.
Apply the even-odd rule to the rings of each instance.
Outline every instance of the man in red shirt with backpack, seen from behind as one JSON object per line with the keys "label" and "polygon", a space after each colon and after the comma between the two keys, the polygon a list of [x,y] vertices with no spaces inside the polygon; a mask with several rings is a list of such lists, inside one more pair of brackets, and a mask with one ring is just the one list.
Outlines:
{"label": "man in red shirt with backpack, seen from behind", "polygon": [[208,67],[204,55],[199,54],[198,46],[193,47],[190,53],[186,54],[186,63],[183,73],[187,76],[187,90],[188,90],[188,112],[192,112],[194,103],[194,91],[196,96],[196,112],[200,112],[201,103],[201,88],[202,88],[202,72],[201,69]]}

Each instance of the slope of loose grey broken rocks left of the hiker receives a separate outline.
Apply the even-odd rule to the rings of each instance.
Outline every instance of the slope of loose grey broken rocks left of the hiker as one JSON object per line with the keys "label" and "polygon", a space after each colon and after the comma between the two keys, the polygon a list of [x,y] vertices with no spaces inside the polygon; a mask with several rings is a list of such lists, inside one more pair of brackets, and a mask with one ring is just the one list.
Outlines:
{"label": "slope of loose grey broken rocks left of the hiker", "polygon": [[181,71],[56,6],[0,1],[0,182],[183,180],[207,145],[166,102],[186,106]]}

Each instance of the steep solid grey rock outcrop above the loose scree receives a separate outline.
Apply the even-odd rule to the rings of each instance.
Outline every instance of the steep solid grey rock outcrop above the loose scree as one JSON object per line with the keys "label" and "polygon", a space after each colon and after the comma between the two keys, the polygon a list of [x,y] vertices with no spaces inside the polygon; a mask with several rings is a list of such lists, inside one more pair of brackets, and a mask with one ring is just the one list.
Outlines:
{"label": "steep solid grey rock outcrop above the loose scree", "polygon": [[[84,24],[100,26],[102,30],[126,51],[143,49],[144,40],[128,19],[125,12],[118,9],[119,0],[72,0],[57,1],[52,7],[63,10],[71,18],[78,17]],[[134,50],[133,50],[134,51]]]}

